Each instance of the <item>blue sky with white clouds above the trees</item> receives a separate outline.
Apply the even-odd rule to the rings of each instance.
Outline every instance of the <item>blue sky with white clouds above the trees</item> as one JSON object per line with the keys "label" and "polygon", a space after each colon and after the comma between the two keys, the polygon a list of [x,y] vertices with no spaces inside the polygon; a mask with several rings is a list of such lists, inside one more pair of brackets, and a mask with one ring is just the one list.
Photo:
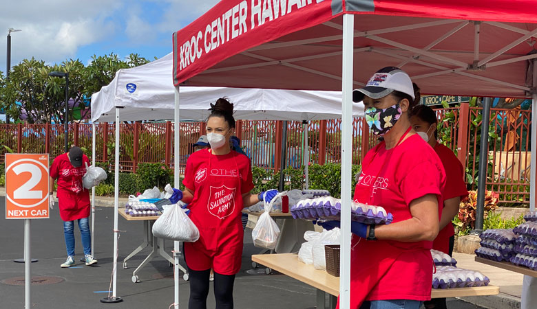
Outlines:
{"label": "blue sky with white clouds above the trees", "polygon": [[218,0],[17,0],[0,10],[0,71],[6,72],[10,27],[11,65],[24,58],[47,64],[68,58],[131,53],[149,60],[171,52],[171,34],[207,12]]}

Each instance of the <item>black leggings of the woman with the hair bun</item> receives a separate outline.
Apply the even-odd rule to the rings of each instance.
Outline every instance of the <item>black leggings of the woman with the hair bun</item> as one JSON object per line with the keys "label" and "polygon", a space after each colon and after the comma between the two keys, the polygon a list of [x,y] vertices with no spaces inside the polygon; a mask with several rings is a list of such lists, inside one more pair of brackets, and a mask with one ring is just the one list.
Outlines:
{"label": "black leggings of the woman with the hair bun", "polygon": [[[210,274],[210,269],[207,269],[207,271],[193,271],[189,269],[189,309],[207,309]],[[213,288],[216,309],[233,309],[234,282],[235,275],[220,275],[219,273],[214,273]]]}

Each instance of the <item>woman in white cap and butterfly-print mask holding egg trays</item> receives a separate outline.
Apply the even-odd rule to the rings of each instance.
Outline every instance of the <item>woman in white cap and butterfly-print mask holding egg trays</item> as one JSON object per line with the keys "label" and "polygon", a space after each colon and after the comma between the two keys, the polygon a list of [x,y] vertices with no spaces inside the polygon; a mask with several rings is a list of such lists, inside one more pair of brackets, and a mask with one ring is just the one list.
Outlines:
{"label": "woman in white cap and butterfly-print mask holding egg trays", "polygon": [[394,219],[351,224],[350,308],[418,309],[431,297],[442,163],[410,126],[408,111],[419,98],[407,73],[383,68],[352,100],[363,100],[370,130],[383,137],[361,162],[354,199],[384,207]]}

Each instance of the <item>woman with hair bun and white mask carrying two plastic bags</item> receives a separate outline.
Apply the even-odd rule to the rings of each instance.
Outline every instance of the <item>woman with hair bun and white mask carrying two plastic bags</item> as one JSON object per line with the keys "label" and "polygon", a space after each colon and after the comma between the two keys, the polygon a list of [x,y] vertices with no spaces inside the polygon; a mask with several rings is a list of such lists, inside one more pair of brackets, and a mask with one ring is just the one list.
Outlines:
{"label": "woman with hair bun and white mask carrying two plastic bags", "polygon": [[276,190],[251,194],[250,160],[231,150],[229,139],[235,129],[233,104],[218,99],[211,104],[207,139],[211,148],[194,152],[185,169],[182,199],[190,218],[200,231],[197,242],[185,242],[189,267],[189,309],[206,309],[209,273],[214,270],[216,308],[233,308],[233,282],[242,263],[241,214],[265,197],[271,201]]}

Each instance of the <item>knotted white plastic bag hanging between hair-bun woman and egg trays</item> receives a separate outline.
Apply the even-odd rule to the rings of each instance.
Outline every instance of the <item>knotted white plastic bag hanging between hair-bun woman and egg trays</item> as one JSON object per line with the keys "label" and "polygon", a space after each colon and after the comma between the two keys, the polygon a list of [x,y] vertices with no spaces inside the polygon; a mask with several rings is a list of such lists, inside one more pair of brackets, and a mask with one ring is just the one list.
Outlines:
{"label": "knotted white plastic bag hanging between hair-bun woman and egg trays", "polygon": [[274,201],[280,196],[284,196],[286,192],[277,194],[270,203],[264,201],[264,213],[259,216],[255,227],[252,230],[252,239],[255,247],[261,247],[266,249],[275,249],[278,236],[280,236],[280,228],[271,218],[271,210]]}

